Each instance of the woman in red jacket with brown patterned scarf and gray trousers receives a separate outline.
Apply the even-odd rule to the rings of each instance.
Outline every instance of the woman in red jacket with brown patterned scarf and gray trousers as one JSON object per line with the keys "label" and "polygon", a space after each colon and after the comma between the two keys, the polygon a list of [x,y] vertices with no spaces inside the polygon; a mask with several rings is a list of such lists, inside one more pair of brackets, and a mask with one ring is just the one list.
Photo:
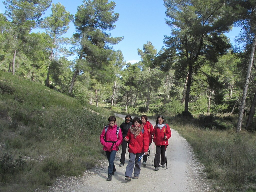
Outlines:
{"label": "woman in red jacket with brown patterned scarf and gray trousers", "polygon": [[[148,132],[143,129],[142,121],[139,117],[133,119],[133,125],[129,129],[125,141],[129,142],[129,163],[127,164],[125,171],[125,180],[131,181],[132,173],[134,179],[138,179],[141,172],[141,158],[145,153],[147,155],[149,147]],[[138,159],[138,157],[141,157]],[[135,162],[138,159],[137,162]],[[135,164],[135,167],[134,167]],[[133,172],[134,168],[134,172]]]}

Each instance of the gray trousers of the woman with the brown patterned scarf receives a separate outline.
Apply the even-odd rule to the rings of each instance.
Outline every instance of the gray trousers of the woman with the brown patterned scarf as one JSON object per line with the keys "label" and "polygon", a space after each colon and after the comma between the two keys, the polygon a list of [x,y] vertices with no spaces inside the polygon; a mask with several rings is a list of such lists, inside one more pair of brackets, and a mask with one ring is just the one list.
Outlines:
{"label": "gray trousers of the woman with the brown patterned scarf", "polygon": [[[132,177],[132,172],[133,172],[133,168],[134,168],[134,172],[133,172],[133,175],[134,176],[139,176],[140,175],[140,172],[141,172],[141,158],[140,161],[137,161],[135,162],[135,159],[137,159],[138,157],[140,157],[141,155],[143,155],[143,153],[129,153],[129,156],[130,156],[130,160],[129,160],[129,163],[128,165],[126,166],[126,171],[125,171],[125,177],[129,176],[129,177]],[[137,163],[135,165],[135,163]],[[135,165],[135,167],[134,167]]]}

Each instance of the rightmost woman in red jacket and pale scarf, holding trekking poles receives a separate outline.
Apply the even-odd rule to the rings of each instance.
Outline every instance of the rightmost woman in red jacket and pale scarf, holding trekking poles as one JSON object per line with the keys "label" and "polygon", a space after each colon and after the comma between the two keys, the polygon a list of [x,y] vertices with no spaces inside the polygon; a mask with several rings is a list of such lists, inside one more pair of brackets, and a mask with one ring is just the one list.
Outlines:
{"label": "rightmost woman in red jacket and pale scarf, holding trekking poles", "polygon": [[159,115],[156,119],[156,125],[153,130],[152,138],[153,142],[156,145],[156,155],[155,155],[155,162],[154,167],[155,171],[158,171],[160,168],[160,155],[161,155],[161,167],[165,167],[166,163],[166,148],[168,146],[168,139],[172,136],[172,132],[170,126],[165,123],[164,117]]}

